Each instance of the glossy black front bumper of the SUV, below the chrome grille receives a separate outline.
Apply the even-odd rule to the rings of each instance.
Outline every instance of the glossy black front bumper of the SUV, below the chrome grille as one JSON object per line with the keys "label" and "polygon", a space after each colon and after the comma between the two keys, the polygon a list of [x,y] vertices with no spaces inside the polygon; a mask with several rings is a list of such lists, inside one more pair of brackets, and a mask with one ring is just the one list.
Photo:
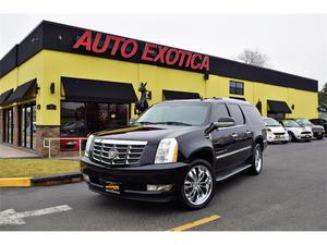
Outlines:
{"label": "glossy black front bumper of the SUV, below the chrome grille", "polygon": [[[133,168],[105,168],[88,158],[81,159],[81,171],[90,191],[128,199],[171,201],[183,182],[189,164],[183,162],[148,164]],[[108,189],[114,183],[119,191]],[[147,191],[147,185],[172,185],[170,191]]]}

